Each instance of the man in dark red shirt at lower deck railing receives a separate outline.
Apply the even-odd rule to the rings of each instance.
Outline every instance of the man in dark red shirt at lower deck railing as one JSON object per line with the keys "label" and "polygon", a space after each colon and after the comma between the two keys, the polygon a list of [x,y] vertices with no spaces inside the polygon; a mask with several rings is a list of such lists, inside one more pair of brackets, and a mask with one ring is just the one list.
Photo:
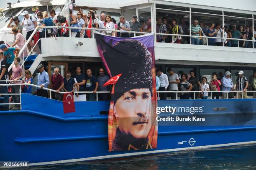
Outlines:
{"label": "man in dark red shirt at lower deck railing", "polygon": [[51,77],[51,89],[56,90],[56,92],[51,92],[51,98],[62,101],[62,96],[59,93],[64,86],[63,77],[59,74],[59,68],[54,68],[54,74]]}

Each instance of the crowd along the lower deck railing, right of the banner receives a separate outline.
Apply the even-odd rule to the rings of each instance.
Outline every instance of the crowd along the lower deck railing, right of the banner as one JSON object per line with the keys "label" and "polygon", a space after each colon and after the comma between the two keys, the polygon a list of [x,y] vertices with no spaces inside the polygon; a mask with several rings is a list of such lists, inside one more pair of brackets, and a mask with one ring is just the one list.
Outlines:
{"label": "crowd along the lower deck railing, right of the banner", "polygon": [[[256,90],[256,71],[253,74],[253,79],[251,79],[251,82],[248,82],[246,76],[243,75],[243,71],[239,71],[235,85],[230,78],[230,71],[226,71],[225,76],[223,77],[217,76],[217,74],[214,72],[210,81],[208,81],[205,76],[203,76],[200,81],[200,79],[198,79],[198,77],[195,75],[194,70],[190,70],[189,74],[181,74],[179,76],[178,74],[174,73],[171,68],[168,68],[167,73],[168,75],[164,74],[161,69],[156,69],[156,90],[172,91],[159,93],[160,100],[166,100],[167,97],[177,99],[177,96],[179,96],[180,99],[208,99],[208,96],[210,97],[210,92],[208,91],[213,91],[211,99],[219,99],[220,96],[222,96],[222,99],[233,98],[234,93],[232,91],[241,91],[238,92],[237,98],[247,99],[247,90]],[[176,93],[175,91],[182,92]],[[189,93],[189,91],[202,92]],[[253,93],[253,98],[256,98],[256,92]]]}

